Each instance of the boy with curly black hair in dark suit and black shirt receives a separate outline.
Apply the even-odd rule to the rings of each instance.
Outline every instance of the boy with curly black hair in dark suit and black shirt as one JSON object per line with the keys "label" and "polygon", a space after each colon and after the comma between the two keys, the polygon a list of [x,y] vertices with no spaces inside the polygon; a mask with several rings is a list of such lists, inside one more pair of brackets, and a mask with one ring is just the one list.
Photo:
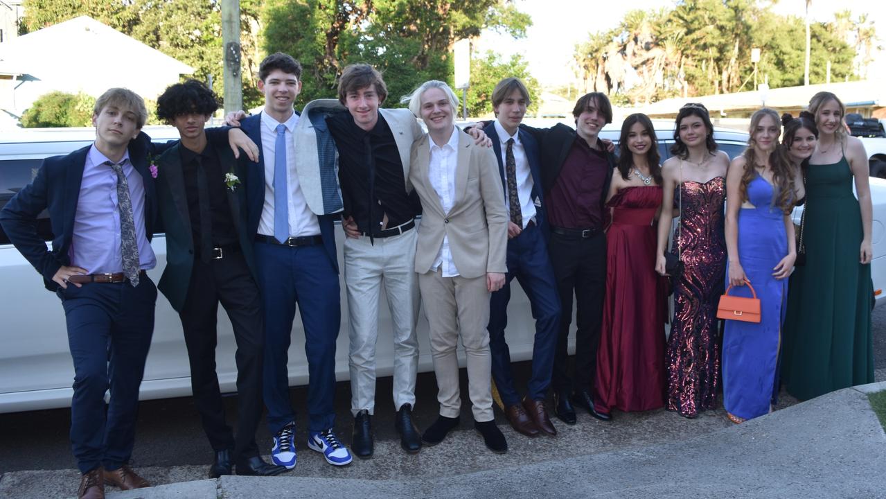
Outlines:
{"label": "boy with curly black hair in dark suit and black shirt", "polygon": [[[182,319],[190,385],[215,453],[209,475],[229,475],[233,465],[239,475],[276,475],[286,469],[264,462],[255,443],[264,332],[253,244],[241,209],[244,190],[238,189],[246,167],[226,147],[227,129],[203,128],[218,107],[212,90],[196,80],[168,87],[157,100],[158,117],[181,136],[157,160],[167,241],[167,267],[158,287]],[[236,437],[225,422],[215,372],[219,302],[237,340]]]}

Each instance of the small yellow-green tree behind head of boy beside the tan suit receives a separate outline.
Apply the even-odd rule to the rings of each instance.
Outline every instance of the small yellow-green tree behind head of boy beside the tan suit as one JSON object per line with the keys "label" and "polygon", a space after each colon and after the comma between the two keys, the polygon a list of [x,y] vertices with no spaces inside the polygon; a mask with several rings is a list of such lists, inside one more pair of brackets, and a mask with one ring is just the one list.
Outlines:
{"label": "small yellow-green tree behind head of boy beside the tan suit", "polygon": [[504,61],[494,51],[486,51],[484,57],[472,58],[470,61],[470,89],[466,99],[468,114],[470,116],[492,114],[495,85],[509,76],[523,80],[526,90],[529,90],[531,101],[528,112],[537,113],[541,97],[540,85],[538,80],[529,74],[528,63],[523,56],[514,54],[510,60]]}

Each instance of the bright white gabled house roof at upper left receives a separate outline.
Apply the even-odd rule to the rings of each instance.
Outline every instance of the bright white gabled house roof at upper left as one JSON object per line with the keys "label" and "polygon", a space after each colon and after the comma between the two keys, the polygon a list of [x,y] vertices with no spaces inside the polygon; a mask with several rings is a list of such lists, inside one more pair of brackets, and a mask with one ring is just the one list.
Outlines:
{"label": "bright white gabled house roof at upper left", "polygon": [[[124,35],[89,16],[69,19],[21,35],[0,47],[0,67],[21,73],[31,73],[33,61],[46,58],[66,60],[138,60],[144,67],[164,72],[192,74],[194,68],[161,51]],[[41,65],[42,66],[42,65]],[[84,71],[89,71],[84,67]]]}

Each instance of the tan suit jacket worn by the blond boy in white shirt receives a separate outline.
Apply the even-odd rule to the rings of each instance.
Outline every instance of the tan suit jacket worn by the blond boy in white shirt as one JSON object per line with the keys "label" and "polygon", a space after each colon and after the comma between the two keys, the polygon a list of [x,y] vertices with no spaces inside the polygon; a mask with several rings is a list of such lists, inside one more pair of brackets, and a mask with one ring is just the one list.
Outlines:
{"label": "tan suit jacket worn by the blond boy in white shirt", "polygon": [[423,210],[416,272],[424,274],[431,269],[444,236],[449,238],[449,250],[460,276],[474,278],[485,276],[486,272],[507,272],[508,212],[495,153],[458,132],[455,200],[449,213],[444,213],[428,176],[430,140],[427,134],[416,140],[410,160],[409,181],[422,200]]}

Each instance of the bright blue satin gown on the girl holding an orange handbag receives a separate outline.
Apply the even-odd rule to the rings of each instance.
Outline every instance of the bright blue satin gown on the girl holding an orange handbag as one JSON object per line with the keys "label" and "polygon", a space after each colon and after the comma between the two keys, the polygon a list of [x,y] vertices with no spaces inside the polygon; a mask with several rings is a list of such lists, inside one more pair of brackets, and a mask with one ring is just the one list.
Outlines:
{"label": "bright blue satin gown on the girl holding an orange handbag", "polygon": [[[748,199],[754,207],[738,212],[738,259],[760,299],[760,323],[726,321],[723,405],[729,413],[744,419],[767,414],[778,394],[778,355],[788,279],[776,280],[773,269],[788,254],[788,240],[784,214],[773,206],[773,191],[773,185],[757,175],[748,183]],[[750,296],[750,289],[746,285],[733,287],[729,294]]]}

